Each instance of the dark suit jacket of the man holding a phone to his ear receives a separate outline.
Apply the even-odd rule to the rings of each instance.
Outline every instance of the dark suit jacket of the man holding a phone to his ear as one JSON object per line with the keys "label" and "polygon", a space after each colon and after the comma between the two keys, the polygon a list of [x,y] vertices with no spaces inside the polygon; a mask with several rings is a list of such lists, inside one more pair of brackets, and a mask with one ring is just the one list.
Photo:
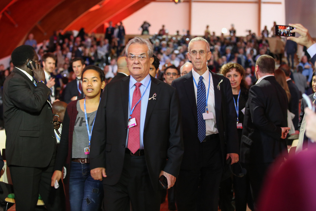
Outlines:
{"label": "dark suit jacket of the man holding a phone to his ear", "polygon": [[17,68],[3,85],[6,158],[9,165],[46,167],[55,150],[51,90],[37,86]]}

